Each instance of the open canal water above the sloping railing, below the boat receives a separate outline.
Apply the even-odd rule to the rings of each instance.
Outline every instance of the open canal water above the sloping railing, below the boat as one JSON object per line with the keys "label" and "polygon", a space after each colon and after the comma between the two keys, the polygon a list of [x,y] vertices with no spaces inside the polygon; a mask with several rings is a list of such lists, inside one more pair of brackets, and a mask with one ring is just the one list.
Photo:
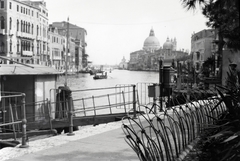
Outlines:
{"label": "open canal water above the sloping railing, below the boat", "polygon": [[[92,88],[114,87],[119,84],[137,84],[137,83],[158,83],[158,72],[149,71],[129,71],[129,70],[113,70],[107,72],[107,79],[94,80],[89,73],[79,73],[70,75],[67,78],[67,85],[71,90],[84,90]],[[58,85],[63,85],[64,76],[59,77]],[[94,94],[94,91],[92,93]]]}

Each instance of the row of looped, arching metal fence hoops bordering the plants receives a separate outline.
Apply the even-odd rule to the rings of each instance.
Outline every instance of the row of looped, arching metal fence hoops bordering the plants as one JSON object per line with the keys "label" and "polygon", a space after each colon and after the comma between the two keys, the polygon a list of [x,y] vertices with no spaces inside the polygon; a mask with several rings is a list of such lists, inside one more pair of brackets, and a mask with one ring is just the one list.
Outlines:
{"label": "row of looped, arching metal fence hoops bordering the plants", "polygon": [[[224,104],[215,107],[218,97],[202,97],[205,93],[192,94],[191,100],[183,96],[187,103],[179,102],[179,105],[159,114],[146,112],[137,119],[123,118],[125,140],[141,161],[174,161],[182,158],[182,152],[226,110]],[[147,106],[145,109],[150,111]]]}

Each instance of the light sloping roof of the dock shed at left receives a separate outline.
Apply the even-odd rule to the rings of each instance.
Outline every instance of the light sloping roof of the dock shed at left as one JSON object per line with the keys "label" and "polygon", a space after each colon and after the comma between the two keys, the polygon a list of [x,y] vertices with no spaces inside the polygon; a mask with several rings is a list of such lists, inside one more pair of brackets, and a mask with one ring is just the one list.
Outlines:
{"label": "light sloping roof of the dock shed at left", "polygon": [[63,74],[52,67],[37,64],[0,64],[0,75],[53,75]]}

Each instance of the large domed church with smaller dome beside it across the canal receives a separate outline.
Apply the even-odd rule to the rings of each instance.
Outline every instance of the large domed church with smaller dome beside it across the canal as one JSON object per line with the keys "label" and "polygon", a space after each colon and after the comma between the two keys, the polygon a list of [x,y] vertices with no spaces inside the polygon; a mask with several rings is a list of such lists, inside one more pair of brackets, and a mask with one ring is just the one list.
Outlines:
{"label": "large domed church with smaller dome beside it across the canal", "polygon": [[176,60],[188,55],[185,51],[177,51],[177,40],[167,38],[163,47],[160,46],[158,39],[155,37],[154,30],[150,30],[149,36],[143,43],[143,50],[130,53],[129,69],[130,70],[159,70],[159,60],[164,60],[164,65],[171,66],[176,64]]}

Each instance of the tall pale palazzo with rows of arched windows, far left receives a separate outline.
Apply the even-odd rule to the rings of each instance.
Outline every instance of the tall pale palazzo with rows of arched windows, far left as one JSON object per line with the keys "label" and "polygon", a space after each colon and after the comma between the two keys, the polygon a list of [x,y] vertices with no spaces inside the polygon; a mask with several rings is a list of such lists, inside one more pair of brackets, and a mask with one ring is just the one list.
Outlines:
{"label": "tall pale palazzo with rows of arched windows, far left", "polygon": [[[46,51],[47,17],[44,1],[1,0],[0,55],[21,63],[40,64]],[[39,39],[41,35],[45,39]]]}

